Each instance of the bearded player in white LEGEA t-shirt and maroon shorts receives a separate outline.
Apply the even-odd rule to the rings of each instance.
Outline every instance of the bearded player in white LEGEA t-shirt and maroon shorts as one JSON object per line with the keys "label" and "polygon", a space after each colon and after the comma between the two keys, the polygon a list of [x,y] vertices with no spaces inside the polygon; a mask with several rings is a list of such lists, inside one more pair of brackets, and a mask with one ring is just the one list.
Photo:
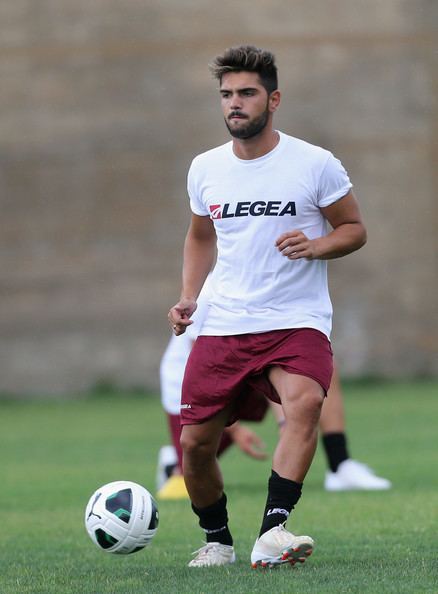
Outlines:
{"label": "bearded player in white LEGEA t-shirt and maroon shorts", "polygon": [[183,334],[217,249],[213,296],[181,399],[184,480],[207,541],[189,566],[235,560],[216,452],[224,427],[262,392],[281,402],[285,424],[251,564],[275,567],[305,561],[314,547],[285,524],[313,459],[332,375],[326,261],[362,247],[366,230],[341,163],[274,128],[273,54],[231,48],[212,72],[232,139],[191,164],[182,290],[168,314],[175,335]]}

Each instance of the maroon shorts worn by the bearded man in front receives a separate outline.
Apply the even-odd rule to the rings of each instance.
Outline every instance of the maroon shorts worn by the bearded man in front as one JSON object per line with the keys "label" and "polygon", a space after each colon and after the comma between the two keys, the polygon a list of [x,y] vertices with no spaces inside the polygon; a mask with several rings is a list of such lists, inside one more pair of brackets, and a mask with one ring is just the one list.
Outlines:
{"label": "maroon shorts worn by the bearded man in front", "polygon": [[260,421],[268,408],[266,398],[280,402],[268,380],[271,367],[309,377],[327,393],[333,372],[330,341],[313,328],[199,336],[184,374],[181,424],[202,423],[230,403],[230,423]]}

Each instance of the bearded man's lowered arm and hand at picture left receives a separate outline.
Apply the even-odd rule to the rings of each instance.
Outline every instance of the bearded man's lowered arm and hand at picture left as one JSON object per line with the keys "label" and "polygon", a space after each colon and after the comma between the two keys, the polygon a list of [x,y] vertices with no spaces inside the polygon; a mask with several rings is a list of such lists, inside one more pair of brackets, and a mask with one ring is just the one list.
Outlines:
{"label": "bearded man's lowered arm and hand at picture left", "polygon": [[216,255],[216,233],[210,217],[193,214],[184,243],[184,263],[181,297],[169,311],[168,319],[174,333],[179,336],[192,324],[196,299]]}

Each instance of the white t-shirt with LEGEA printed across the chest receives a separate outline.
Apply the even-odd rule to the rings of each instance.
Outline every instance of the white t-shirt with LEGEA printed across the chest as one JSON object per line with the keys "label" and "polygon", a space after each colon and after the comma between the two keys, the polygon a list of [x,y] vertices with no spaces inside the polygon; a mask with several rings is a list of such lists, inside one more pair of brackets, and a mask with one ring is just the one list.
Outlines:
{"label": "white t-shirt with LEGEA printed across the chest", "polygon": [[236,157],[232,142],[198,155],[188,174],[190,206],[209,216],[218,260],[201,334],[315,328],[328,337],[332,306],[323,260],[289,260],[275,246],[286,231],[327,234],[320,207],[352,184],[329,151],[283,133],[262,157]]}

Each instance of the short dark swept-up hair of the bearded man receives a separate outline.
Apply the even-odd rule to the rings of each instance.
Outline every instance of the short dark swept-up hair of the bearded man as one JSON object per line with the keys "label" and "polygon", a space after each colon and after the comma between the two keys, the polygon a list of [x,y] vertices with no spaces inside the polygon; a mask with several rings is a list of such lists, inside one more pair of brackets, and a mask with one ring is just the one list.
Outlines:
{"label": "short dark swept-up hair of the bearded man", "polygon": [[274,54],[254,45],[228,48],[222,55],[216,56],[210,64],[210,71],[219,82],[228,72],[256,72],[268,94],[278,88]]}

